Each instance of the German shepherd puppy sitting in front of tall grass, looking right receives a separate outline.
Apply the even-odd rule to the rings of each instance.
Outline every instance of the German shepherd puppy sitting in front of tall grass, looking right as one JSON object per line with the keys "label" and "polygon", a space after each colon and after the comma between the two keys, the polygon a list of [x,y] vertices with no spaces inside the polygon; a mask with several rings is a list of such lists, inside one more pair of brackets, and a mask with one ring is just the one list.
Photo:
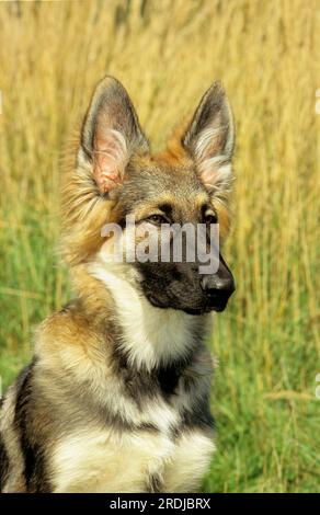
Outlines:
{"label": "German shepherd puppy sitting in front of tall grass, looking right", "polygon": [[[235,289],[222,260],[112,262],[106,222],[219,222],[228,231],[233,122],[221,85],[165,151],[150,153],[114,78],[92,96],[64,176],[62,255],[75,299],[48,317],[32,363],[4,398],[2,492],[192,492],[214,451],[212,310]],[[137,245],[139,238],[134,240]]]}

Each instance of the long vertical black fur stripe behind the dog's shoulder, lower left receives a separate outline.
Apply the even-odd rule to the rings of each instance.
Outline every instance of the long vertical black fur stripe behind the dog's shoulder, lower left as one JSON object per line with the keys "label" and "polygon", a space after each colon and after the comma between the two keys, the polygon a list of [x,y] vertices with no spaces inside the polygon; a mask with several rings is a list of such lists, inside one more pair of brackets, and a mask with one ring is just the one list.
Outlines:
{"label": "long vertical black fur stripe behind the dog's shoulder, lower left", "polygon": [[28,410],[32,404],[32,375],[35,360],[20,374],[16,386],[14,424],[20,433],[21,450],[24,457],[24,478],[27,492],[49,492],[46,479],[44,451],[34,440]]}

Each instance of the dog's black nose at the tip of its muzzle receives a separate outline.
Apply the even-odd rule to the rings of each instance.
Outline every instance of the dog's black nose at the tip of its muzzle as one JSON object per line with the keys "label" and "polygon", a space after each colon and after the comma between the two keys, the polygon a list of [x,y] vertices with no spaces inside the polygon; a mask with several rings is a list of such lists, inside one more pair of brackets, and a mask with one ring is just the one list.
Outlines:
{"label": "dog's black nose at the tip of its muzzle", "polygon": [[208,307],[215,311],[224,311],[236,285],[233,276],[221,256],[218,272],[214,275],[203,276],[201,284]]}

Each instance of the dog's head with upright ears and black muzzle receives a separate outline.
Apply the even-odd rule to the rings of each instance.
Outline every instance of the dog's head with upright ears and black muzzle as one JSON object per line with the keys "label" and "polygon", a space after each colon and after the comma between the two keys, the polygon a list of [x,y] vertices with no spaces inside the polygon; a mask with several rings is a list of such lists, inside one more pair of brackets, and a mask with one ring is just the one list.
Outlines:
{"label": "dog's head with upright ears and black muzzle", "polygon": [[[228,230],[233,139],[228,101],[221,85],[214,83],[168,149],[152,154],[124,87],[113,78],[100,82],[82,125],[77,164],[65,187],[70,263],[92,262],[103,253],[110,258],[117,237],[126,242],[123,258],[135,271],[137,288],[153,306],[194,314],[225,309],[235,283],[221,254],[216,255],[210,273],[202,273],[199,255],[194,252],[191,259],[187,251],[190,245],[195,250],[199,233],[206,250],[212,249],[213,226],[219,225],[221,238]],[[134,220],[130,231],[135,228],[129,243],[128,220]],[[101,233],[106,224],[116,224],[122,236],[112,229]],[[182,227],[188,227],[192,242],[187,231],[178,230]],[[161,242],[168,233],[163,258]],[[176,254],[178,233],[181,252]],[[152,238],[146,243],[149,234]],[[134,250],[134,259],[127,259],[128,250],[130,256]]]}

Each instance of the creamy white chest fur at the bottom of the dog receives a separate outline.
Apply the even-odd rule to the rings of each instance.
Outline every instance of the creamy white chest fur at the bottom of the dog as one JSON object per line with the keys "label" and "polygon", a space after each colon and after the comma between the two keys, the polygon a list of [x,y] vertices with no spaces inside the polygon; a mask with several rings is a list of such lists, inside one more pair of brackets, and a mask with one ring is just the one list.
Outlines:
{"label": "creamy white chest fur at the bottom of the dog", "polygon": [[195,491],[213,451],[212,439],[198,431],[174,442],[149,432],[83,431],[54,450],[55,492],[146,492],[155,478],[162,492]]}

